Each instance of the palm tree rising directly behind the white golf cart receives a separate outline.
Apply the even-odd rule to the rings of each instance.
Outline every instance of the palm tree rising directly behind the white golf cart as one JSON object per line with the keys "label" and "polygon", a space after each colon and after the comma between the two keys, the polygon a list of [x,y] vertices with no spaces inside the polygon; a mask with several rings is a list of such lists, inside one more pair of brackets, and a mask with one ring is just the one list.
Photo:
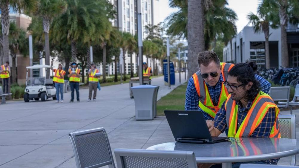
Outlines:
{"label": "palm tree rising directly behind the white golf cart", "polygon": [[[42,26],[45,35],[45,54],[46,65],[50,65],[50,43],[49,43],[49,30],[54,17],[59,16],[66,9],[64,0],[39,0],[38,8],[35,15],[42,18]],[[50,71],[47,71],[46,78],[50,78]]]}

